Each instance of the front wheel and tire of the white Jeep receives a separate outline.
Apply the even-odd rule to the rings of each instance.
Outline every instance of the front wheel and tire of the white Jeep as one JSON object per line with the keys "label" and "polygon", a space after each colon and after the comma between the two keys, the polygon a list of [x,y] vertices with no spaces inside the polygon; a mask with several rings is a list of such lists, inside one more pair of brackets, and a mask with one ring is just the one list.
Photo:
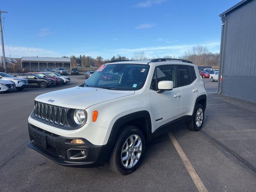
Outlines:
{"label": "front wheel and tire of the white Jeep", "polygon": [[[135,146],[132,145],[130,138],[133,138],[135,141]],[[130,174],[138,168],[144,149],[145,139],[142,131],[135,126],[125,126],[124,129],[122,129],[122,132],[118,135],[110,154],[110,158],[108,159],[110,170],[118,174]],[[127,157],[126,160],[122,161],[122,158],[125,157]]]}

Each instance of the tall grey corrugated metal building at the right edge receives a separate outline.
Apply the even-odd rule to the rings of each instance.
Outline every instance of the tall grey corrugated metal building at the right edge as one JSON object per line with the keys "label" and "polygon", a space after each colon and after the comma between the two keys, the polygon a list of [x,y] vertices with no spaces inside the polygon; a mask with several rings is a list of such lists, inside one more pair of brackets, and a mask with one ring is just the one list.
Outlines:
{"label": "tall grey corrugated metal building at the right edge", "polygon": [[243,0],[220,17],[218,92],[256,102],[256,0]]}

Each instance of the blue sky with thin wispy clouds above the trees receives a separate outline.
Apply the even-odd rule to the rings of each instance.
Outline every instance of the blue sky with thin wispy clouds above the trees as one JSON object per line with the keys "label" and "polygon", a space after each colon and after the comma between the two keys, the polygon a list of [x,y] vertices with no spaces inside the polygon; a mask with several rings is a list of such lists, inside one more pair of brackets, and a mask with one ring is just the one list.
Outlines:
{"label": "blue sky with thin wispy clouds above the trees", "polygon": [[[180,56],[220,50],[219,14],[239,0],[2,0],[6,56]],[[1,52],[2,54],[2,52]]]}

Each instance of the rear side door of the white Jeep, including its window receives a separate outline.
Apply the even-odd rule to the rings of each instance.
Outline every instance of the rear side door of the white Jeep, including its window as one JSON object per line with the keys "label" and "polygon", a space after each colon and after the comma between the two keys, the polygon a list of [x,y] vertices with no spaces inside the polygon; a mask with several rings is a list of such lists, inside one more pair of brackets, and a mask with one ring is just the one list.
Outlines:
{"label": "rear side door of the white Jeep, including its window", "polygon": [[196,98],[200,95],[196,84],[196,72],[194,66],[178,65],[178,87],[181,89],[182,100],[180,115],[192,115]]}

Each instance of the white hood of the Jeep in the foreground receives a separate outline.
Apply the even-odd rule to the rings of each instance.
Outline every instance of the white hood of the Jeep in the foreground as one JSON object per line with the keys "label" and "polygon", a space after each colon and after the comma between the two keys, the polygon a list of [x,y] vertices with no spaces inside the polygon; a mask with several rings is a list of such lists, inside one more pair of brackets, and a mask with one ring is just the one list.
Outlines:
{"label": "white hood of the Jeep in the foreground", "polygon": [[66,108],[86,109],[98,103],[132,95],[134,92],[76,86],[39,95],[35,100]]}

